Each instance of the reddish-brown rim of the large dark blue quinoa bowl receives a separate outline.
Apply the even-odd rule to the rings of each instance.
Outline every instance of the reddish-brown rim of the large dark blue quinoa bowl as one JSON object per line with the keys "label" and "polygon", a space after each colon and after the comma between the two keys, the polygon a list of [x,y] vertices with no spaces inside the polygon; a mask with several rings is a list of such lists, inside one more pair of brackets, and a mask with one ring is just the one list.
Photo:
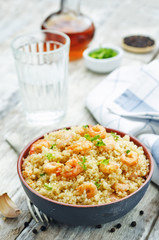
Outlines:
{"label": "reddish-brown rim of the large dark blue quinoa bowl", "polygon": [[[63,129],[63,128],[61,128]],[[58,131],[58,130],[61,130],[61,129],[57,129],[57,130],[53,130],[52,132],[54,131]],[[70,127],[66,127],[66,129],[70,129]],[[130,141],[133,141],[138,147],[141,146],[144,150],[144,154],[146,155],[146,158],[149,159],[149,167],[150,167],[150,171],[149,171],[149,174],[145,180],[145,182],[133,193],[129,194],[128,196],[124,197],[124,198],[121,198],[117,201],[114,201],[114,202],[111,202],[111,203],[103,203],[103,204],[99,204],[99,205],[74,205],[74,204],[69,204],[69,203],[63,203],[63,202],[58,202],[58,201],[55,201],[55,200],[52,200],[50,198],[47,198],[47,197],[44,197],[43,195],[39,194],[38,192],[36,192],[33,188],[31,188],[25,181],[25,179],[23,178],[23,175],[22,175],[22,171],[21,171],[21,167],[22,167],[22,162],[23,162],[23,158],[25,158],[27,155],[28,155],[28,152],[29,152],[29,149],[30,149],[30,146],[31,144],[33,144],[35,141],[37,141],[38,139],[42,139],[44,137],[44,135],[34,139],[33,141],[31,141],[24,149],[23,151],[20,153],[19,155],[19,158],[18,158],[18,161],[17,161],[17,172],[18,172],[18,175],[19,175],[19,178],[20,180],[23,182],[23,184],[32,192],[34,193],[35,195],[37,195],[38,197],[41,197],[43,198],[44,200],[47,200],[49,202],[52,202],[52,203],[55,203],[55,204],[58,204],[58,205],[64,205],[64,206],[68,206],[68,207],[77,207],[77,208],[90,208],[90,207],[101,207],[101,206],[106,206],[106,205],[112,205],[112,204],[115,204],[117,202],[121,202],[123,200],[126,200],[127,198],[131,197],[132,195],[136,194],[138,191],[140,191],[141,188],[143,188],[151,179],[152,177],[152,173],[153,173],[153,168],[154,168],[154,164],[153,164],[153,159],[152,159],[152,156],[151,156],[151,153],[150,151],[145,147],[144,144],[142,144],[137,138],[127,134],[127,133],[124,133],[124,132],[121,132],[121,131],[118,131],[118,130],[115,130],[115,129],[112,129],[112,128],[105,128],[106,131],[109,133],[109,132],[115,132],[117,133],[118,135],[120,135],[121,137],[125,136],[125,135],[128,135],[130,137]]]}

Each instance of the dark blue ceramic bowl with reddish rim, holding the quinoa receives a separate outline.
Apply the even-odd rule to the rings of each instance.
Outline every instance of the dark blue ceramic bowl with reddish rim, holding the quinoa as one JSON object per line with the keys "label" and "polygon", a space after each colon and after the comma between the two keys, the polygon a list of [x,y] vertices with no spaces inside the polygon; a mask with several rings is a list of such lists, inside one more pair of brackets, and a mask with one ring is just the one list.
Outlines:
{"label": "dark blue ceramic bowl with reddish rim, holding the quinoa", "polygon": [[[106,128],[106,131],[116,132],[121,137],[125,135],[125,133],[114,129]],[[133,141],[137,146],[143,147],[144,153],[150,162],[150,172],[146,177],[144,184],[134,193],[118,201],[101,205],[72,205],[57,202],[40,195],[25,182],[21,169],[23,158],[26,158],[26,156],[28,155],[30,146],[35,141],[41,138],[43,138],[43,136],[32,141],[21,152],[17,163],[17,170],[24,191],[26,192],[31,202],[34,205],[36,205],[37,208],[39,208],[47,216],[53,218],[54,220],[68,225],[85,225],[85,226],[107,223],[110,221],[114,221],[128,213],[138,204],[138,202],[144,196],[152,177],[153,160],[147,148],[132,136],[130,136],[130,140]]]}

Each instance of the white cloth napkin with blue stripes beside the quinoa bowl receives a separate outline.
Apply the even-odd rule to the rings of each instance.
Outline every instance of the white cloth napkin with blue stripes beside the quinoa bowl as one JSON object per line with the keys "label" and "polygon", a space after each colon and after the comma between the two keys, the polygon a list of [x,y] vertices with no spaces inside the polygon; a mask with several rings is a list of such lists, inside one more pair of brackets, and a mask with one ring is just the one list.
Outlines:
{"label": "white cloth napkin with blue stripes beside the quinoa bowl", "polygon": [[90,92],[86,107],[101,125],[136,136],[150,149],[152,181],[159,185],[159,61],[118,68]]}

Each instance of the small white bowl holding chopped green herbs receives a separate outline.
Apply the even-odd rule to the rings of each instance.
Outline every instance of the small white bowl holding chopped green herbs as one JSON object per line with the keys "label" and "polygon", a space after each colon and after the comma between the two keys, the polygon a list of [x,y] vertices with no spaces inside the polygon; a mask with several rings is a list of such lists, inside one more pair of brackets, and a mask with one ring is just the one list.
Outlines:
{"label": "small white bowl holding chopped green herbs", "polygon": [[[105,58],[105,59],[96,59],[89,56],[90,52],[95,51],[100,47],[111,48],[115,50],[118,54],[114,57]],[[88,69],[92,70],[93,72],[97,72],[97,73],[111,72],[112,70],[114,70],[119,66],[123,56],[123,51],[120,47],[116,47],[111,44],[104,44],[100,47],[90,47],[83,52],[85,65]]]}

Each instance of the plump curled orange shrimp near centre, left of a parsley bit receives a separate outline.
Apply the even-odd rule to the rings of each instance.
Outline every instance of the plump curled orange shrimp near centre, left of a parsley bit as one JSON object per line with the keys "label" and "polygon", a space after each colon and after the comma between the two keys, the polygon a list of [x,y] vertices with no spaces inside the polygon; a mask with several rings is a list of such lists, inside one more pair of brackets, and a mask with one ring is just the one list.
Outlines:
{"label": "plump curled orange shrimp near centre, left of a parsley bit", "polygon": [[74,178],[83,171],[79,161],[76,158],[72,158],[66,162],[62,175],[66,178]]}

